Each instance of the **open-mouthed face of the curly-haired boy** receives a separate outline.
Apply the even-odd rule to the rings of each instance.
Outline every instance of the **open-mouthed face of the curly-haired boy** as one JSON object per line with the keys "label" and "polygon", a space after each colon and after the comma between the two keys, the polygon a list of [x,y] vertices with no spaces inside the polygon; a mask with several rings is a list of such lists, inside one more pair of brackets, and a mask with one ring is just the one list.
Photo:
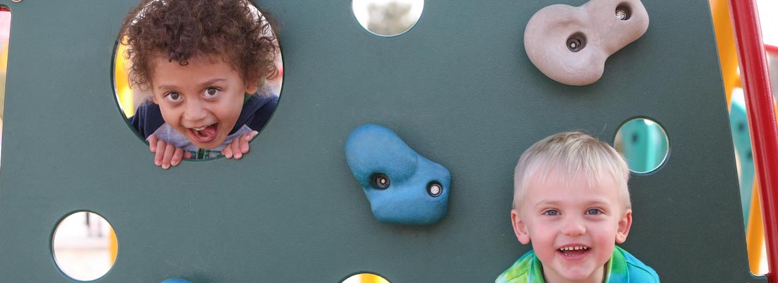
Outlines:
{"label": "open-mouthed face of the curly-haired boy", "polygon": [[187,65],[157,56],[151,62],[151,90],[165,123],[198,148],[221,145],[243,109],[244,95],[257,84],[246,82],[222,58],[190,58]]}

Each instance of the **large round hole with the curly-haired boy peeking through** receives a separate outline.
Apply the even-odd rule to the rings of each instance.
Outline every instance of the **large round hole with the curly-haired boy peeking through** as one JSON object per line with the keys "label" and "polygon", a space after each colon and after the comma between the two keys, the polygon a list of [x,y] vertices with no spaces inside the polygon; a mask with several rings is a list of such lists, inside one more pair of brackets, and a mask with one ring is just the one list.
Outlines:
{"label": "large round hole with the curly-haired boy peeking through", "polygon": [[[222,156],[229,141],[265,128],[281,93],[281,49],[273,23],[251,2],[240,2],[245,6],[217,9],[207,5],[202,11],[187,13],[198,15],[192,16],[194,19],[160,29],[152,23],[168,19],[175,14],[171,11],[190,9],[170,7],[177,2],[153,1],[136,13],[141,16],[126,24],[127,32],[120,32],[114,52],[114,90],[121,113],[140,138],[148,140],[155,135],[190,152],[191,159],[214,159]],[[193,40],[180,40],[179,33],[167,32],[197,30],[206,21],[209,24],[205,26],[219,28],[211,32],[205,29],[202,37]],[[205,55],[177,59],[187,56],[177,50],[202,46],[198,44],[202,41],[216,45],[216,51],[192,47],[191,54]],[[166,48],[175,44],[182,47]],[[195,107],[187,107],[190,103]],[[197,113],[189,112],[192,110]],[[237,115],[241,111],[246,115]]]}

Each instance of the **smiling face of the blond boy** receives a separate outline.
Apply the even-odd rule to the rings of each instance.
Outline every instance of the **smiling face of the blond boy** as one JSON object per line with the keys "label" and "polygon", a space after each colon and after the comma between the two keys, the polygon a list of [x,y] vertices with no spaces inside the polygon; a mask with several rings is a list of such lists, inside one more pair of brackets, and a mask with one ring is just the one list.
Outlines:
{"label": "smiling face of the blond boy", "polygon": [[615,243],[624,243],[632,225],[615,180],[590,183],[586,175],[569,182],[559,169],[545,180],[531,176],[523,202],[511,211],[517,238],[532,243],[548,282],[601,282]]}

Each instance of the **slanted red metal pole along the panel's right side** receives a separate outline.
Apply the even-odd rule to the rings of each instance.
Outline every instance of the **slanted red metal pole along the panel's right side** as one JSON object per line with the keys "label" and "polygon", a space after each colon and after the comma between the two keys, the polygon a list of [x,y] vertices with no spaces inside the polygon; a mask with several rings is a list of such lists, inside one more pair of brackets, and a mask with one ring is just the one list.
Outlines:
{"label": "slanted red metal pole along the panel's right side", "polygon": [[759,177],[767,246],[767,280],[778,283],[778,123],[762,43],[759,12],[753,0],[729,0],[743,77],[745,106]]}

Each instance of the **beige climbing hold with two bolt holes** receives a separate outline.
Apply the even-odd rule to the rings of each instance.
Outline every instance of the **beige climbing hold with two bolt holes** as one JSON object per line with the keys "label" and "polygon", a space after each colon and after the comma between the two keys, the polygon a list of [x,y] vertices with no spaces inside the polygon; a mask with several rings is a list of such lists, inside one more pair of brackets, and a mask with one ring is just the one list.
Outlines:
{"label": "beige climbing hold with two bolt holes", "polygon": [[550,5],[530,18],[524,30],[524,48],[532,63],[549,78],[584,86],[597,82],[608,56],[643,36],[648,22],[640,0],[591,0],[578,7]]}

